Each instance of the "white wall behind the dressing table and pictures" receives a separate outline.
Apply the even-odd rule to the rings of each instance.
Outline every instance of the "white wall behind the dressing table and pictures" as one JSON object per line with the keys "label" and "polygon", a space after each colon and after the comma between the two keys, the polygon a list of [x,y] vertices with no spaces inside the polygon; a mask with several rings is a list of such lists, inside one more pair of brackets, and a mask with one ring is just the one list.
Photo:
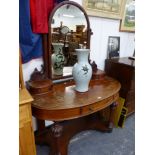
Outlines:
{"label": "white wall behind the dressing table and pictures", "polygon": [[[74,0],[82,4],[82,0]],[[108,36],[120,36],[120,57],[132,56],[134,52],[134,33],[119,32],[119,20],[105,19],[100,17],[89,17],[90,26],[93,31],[91,37],[91,60],[95,60],[99,69],[104,70],[104,61],[107,57]],[[34,59],[23,65],[24,80],[29,80],[34,68],[40,70],[42,59]],[[51,122],[47,121],[46,124]],[[36,129],[33,118],[34,129]]]}

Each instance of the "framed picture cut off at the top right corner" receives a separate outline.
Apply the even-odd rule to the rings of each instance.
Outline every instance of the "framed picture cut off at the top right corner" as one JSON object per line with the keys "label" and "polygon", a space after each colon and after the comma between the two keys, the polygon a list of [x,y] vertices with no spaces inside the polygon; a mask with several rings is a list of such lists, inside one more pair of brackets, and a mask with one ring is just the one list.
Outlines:
{"label": "framed picture cut off at the top right corner", "polygon": [[121,32],[135,32],[135,1],[126,0],[123,18],[120,21]]}

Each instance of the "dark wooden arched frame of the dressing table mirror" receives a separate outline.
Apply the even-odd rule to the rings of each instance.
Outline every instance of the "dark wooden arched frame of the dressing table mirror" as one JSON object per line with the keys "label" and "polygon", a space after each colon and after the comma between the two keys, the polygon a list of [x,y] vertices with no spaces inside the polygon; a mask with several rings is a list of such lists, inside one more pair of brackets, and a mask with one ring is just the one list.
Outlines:
{"label": "dark wooden arched frame of the dressing table mirror", "polygon": [[[59,9],[61,6],[66,5],[66,4],[74,5],[84,13],[84,16],[85,16],[86,22],[87,22],[87,44],[86,44],[86,47],[90,49],[90,37],[91,37],[92,33],[91,33],[91,29],[90,29],[89,18],[88,18],[86,11],[82,8],[81,5],[79,5],[78,3],[73,2],[73,1],[63,1],[63,2],[59,3],[58,5],[56,5],[56,7],[51,11],[50,16],[49,16],[47,38],[46,38],[46,35],[43,36],[43,44],[44,44],[44,41],[47,40],[47,46],[44,44],[44,49],[45,49],[44,60],[46,60],[45,61],[45,68],[46,68],[45,70],[46,70],[46,74],[47,74],[48,78],[51,79],[52,81],[53,81],[53,79],[52,79],[52,69],[51,69],[52,68],[52,61],[51,61],[51,52],[52,52],[52,49],[51,49],[51,42],[52,42],[51,22],[52,22],[52,18],[54,16],[55,12],[57,11],[57,9]],[[59,79],[65,79],[65,77],[62,77]]]}

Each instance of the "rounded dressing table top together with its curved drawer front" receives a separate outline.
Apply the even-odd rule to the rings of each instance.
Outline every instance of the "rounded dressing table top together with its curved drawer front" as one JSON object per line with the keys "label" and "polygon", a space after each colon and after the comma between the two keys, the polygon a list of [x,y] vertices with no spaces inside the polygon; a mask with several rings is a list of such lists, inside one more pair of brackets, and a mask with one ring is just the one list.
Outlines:
{"label": "rounded dressing table top together with its curved drawer front", "polygon": [[[65,120],[87,115],[100,110],[104,104],[110,105],[118,95],[120,87],[117,80],[107,76],[101,80],[91,80],[89,90],[84,93],[77,92],[73,82],[56,84],[52,93],[34,100],[32,113],[39,119],[47,120]],[[99,104],[95,106],[96,103]],[[92,111],[82,109],[90,109],[90,105],[93,106]]]}

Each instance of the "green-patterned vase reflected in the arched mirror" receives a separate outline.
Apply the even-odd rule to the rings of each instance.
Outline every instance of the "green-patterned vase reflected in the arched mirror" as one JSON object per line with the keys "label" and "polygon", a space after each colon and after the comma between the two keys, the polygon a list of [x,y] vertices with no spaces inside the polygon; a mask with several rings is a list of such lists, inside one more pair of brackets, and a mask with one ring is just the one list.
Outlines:
{"label": "green-patterned vase reflected in the arched mirror", "polygon": [[54,48],[54,53],[52,54],[52,72],[54,75],[62,75],[63,67],[65,64],[65,57],[63,55],[63,44],[62,43],[52,43]]}

